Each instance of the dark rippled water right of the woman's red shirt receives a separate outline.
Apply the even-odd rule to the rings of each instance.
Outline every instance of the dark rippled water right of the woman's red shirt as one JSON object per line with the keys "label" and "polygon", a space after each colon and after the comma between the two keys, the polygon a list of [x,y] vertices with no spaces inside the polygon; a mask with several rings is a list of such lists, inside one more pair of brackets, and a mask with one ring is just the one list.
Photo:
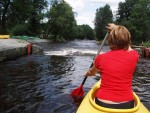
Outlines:
{"label": "dark rippled water right of the woman's red shirt", "polygon": [[133,90],[150,110],[150,60],[140,59],[133,78]]}

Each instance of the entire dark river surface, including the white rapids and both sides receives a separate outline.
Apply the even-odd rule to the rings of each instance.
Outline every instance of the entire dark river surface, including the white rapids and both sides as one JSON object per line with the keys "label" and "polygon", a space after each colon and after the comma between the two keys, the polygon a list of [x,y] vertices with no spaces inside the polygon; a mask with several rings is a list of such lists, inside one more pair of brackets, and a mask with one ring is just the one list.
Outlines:
{"label": "entire dark river surface, including the white rapids and both sides", "polygon": [[[0,63],[0,113],[75,113],[80,101],[70,93],[79,87],[99,45],[75,40],[41,43],[42,55],[30,55]],[[108,51],[104,46],[102,52]],[[99,80],[88,77],[85,94]],[[133,78],[133,90],[150,110],[150,60],[141,58]]]}

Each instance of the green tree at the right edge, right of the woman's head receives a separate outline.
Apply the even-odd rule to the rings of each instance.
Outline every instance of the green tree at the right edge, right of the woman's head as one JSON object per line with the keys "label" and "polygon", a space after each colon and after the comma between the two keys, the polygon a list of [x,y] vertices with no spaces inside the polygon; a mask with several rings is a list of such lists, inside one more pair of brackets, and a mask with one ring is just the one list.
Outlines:
{"label": "green tree at the right edge, right of the woman's head", "polygon": [[139,0],[134,6],[129,27],[134,41],[150,40],[150,0]]}

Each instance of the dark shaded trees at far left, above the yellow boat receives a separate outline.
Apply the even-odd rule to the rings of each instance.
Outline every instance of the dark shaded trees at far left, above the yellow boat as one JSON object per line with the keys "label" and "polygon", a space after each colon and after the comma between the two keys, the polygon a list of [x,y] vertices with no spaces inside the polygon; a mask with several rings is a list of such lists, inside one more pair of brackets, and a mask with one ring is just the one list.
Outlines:
{"label": "dark shaded trees at far left, above the yellow boat", "polygon": [[1,0],[0,6],[1,34],[39,35],[46,0]]}

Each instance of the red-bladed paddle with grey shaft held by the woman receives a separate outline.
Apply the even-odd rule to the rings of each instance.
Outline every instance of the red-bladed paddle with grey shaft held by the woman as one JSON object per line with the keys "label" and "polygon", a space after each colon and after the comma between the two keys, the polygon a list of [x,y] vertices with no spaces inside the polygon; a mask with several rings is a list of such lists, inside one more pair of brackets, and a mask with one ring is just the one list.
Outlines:
{"label": "red-bladed paddle with grey shaft held by the woman", "polygon": [[[101,44],[101,46],[100,46],[100,48],[99,48],[99,50],[98,50],[96,56],[97,56],[97,55],[100,53],[100,51],[102,50],[102,47],[103,47],[103,45],[104,45],[104,43],[105,43],[105,41],[106,41],[106,39],[107,39],[107,36],[108,36],[108,33],[105,35],[105,37],[104,37],[104,39],[103,39],[103,41],[102,41],[102,44]],[[95,56],[95,57],[96,57],[96,56]],[[95,59],[95,57],[94,57],[94,59]],[[92,66],[93,66],[93,62],[92,62],[92,64],[91,64],[90,68],[91,68]],[[72,91],[72,93],[71,93],[71,96],[72,96],[72,97],[74,97],[74,98],[80,98],[80,97],[82,97],[82,96],[84,95],[84,91],[83,91],[82,87],[83,87],[83,85],[84,85],[86,79],[87,79],[87,76],[84,78],[82,84],[81,84],[78,88],[76,88],[75,90]]]}

